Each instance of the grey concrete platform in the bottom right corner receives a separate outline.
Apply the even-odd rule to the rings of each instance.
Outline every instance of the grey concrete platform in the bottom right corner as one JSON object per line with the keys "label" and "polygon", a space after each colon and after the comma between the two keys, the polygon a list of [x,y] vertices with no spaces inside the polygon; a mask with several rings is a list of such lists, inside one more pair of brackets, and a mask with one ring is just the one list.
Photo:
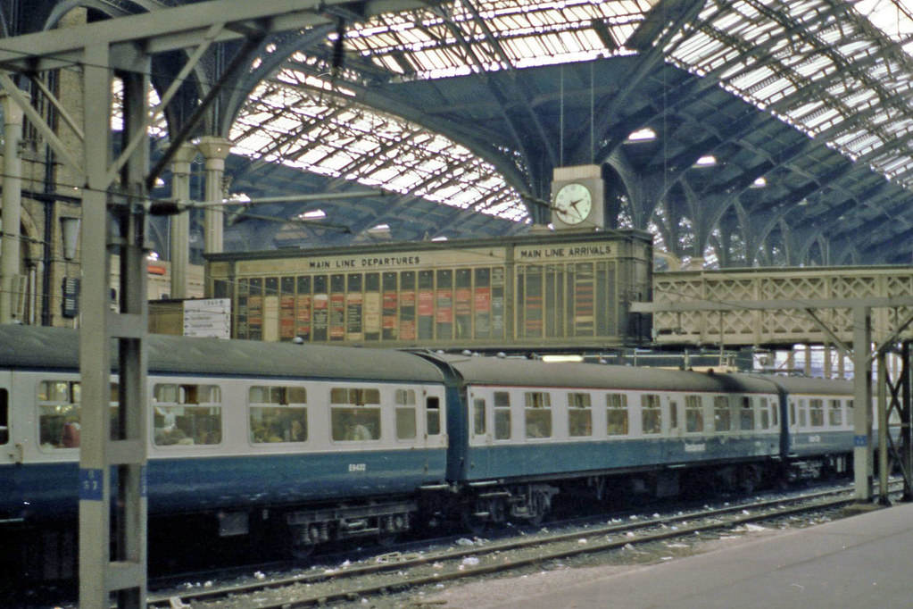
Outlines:
{"label": "grey concrete platform in the bottom right corner", "polygon": [[532,607],[913,607],[913,504],[497,603]]}

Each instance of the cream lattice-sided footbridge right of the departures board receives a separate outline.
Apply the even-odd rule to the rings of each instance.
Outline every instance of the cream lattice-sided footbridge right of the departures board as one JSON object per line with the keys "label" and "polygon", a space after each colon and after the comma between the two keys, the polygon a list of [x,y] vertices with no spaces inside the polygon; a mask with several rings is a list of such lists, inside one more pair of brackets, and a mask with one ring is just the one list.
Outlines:
{"label": "cream lattice-sided footbridge right of the departures board", "polygon": [[[825,300],[855,300],[873,304],[872,338],[880,342],[913,313],[913,308],[890,306],[888,299],[910,296],[913,267],[655,273],[653,329],[656,342],[666,345],[792,346],[834,344],[834,339],[851,343],[853,310],[817,305]],[[760,302],[770,304],[759,309]],[[668,310],[661,310],[664,308]],[[913,340],[913,329],[901,331],[896,340]]]}

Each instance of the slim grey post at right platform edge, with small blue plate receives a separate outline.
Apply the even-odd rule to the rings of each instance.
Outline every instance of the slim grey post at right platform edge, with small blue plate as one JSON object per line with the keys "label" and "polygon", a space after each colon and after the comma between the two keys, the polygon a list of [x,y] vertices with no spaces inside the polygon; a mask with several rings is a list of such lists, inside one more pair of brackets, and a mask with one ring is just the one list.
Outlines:
{"label": "slim grey post at right platform edge, with small blue plate", "polygon": [[872,348],[871,308],[853,308],[853,468],[858,501],[872,499]]}

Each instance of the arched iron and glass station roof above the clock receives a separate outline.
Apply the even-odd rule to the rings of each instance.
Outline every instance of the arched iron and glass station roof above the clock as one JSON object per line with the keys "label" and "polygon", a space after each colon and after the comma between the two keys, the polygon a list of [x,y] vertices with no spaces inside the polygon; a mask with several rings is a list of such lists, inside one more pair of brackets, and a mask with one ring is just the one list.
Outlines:
{"label": "arched iron and glass station roof above the clock", "polygon": [[548,220],[554,167],[599,163],[610,227],[677,257],[911,259],[908,0],[362,4],[264,42],[211,127],[236,195],[392,194],[239,206],[228,247],[518,234]]}

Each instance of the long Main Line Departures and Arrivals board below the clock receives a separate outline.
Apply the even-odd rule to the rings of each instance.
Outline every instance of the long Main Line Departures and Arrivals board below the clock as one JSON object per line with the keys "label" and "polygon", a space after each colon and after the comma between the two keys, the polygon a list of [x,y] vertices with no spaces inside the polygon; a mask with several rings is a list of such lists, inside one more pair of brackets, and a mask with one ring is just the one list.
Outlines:
{"label": "long Main Line Departures and Arrivals board below the clock", "polygon": [[206,255],[233,338],[384,347],[639,344],[652,268],[641,231]]}

